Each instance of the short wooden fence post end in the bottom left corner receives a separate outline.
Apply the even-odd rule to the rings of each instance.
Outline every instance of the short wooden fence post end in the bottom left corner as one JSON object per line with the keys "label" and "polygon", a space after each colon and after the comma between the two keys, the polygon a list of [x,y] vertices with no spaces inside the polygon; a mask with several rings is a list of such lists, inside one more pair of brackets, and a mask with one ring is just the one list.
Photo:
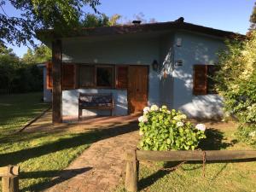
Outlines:
{"label": "short wooden fence post end in the bottom left corner", "polygon": [[20,166],[0,167],[0,177],[2,177],[3,192],[19,191],[19,173],[20,173]]}

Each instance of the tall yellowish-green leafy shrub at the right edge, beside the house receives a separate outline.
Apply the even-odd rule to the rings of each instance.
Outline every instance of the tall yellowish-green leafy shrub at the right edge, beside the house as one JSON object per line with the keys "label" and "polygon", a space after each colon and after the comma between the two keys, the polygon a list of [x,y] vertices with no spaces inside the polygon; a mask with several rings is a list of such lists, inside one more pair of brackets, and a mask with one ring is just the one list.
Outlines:
{"label": "tall yellowish-green leafy shrub at the right edge, beside the house", "polygon": [[256,127],[256,32],[244,41],[227,41],[227,48],[218,55],[217,89],[226,114],[241,123],[240,135],[246,139],[247,129]]}

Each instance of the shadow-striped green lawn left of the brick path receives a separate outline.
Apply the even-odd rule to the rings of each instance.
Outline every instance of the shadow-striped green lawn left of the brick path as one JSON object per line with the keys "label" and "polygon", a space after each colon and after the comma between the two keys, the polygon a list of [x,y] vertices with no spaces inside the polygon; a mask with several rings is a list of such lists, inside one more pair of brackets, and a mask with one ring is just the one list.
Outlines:
{"label": "shadow-striped green lawn left of the brick path", "polygon": [[49,104],[41,102],[41,93],[0,96],[0,166],[20,166],[21,191],[45,189],[98,138],[89,131],[16,132],[45,108]]}

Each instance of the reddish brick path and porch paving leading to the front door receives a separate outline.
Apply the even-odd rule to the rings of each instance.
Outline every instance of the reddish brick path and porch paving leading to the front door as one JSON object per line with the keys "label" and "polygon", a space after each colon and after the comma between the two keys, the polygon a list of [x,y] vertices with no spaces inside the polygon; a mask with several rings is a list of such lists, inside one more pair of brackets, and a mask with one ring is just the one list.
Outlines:
{"label": "reddish brick path and porch paving leading to the front door", "polygon": [[[47,192],[103,192],[113,191],[125,175],[125,153],[135,149],[138,141],[137,116],[100,118],[85,120],[71,125],[50,125],[50,113],[41,119],[43,125],[31,125],[26,131],[88,131],[88,129],[108,129],[108,137],[84,152],[50,183]],[[40,120],[39,120],[40,121]],[[97,123],[94,123],[97,122]],[[38,122],[40,124],[40,122]],[[46,126],[45,126],[45,125]]]}

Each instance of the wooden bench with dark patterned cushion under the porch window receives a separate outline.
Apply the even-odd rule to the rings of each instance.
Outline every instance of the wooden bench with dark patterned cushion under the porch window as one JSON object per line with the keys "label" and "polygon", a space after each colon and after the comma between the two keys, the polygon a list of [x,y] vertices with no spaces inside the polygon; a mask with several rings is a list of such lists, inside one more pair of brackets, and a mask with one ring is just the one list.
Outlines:
{"label": "wooden bench with dark patterned cushion under the porch window", "polygon": [[113,94],[79,93],[79,119],[83,115],[83,109],[111,110],[113,116]]}

